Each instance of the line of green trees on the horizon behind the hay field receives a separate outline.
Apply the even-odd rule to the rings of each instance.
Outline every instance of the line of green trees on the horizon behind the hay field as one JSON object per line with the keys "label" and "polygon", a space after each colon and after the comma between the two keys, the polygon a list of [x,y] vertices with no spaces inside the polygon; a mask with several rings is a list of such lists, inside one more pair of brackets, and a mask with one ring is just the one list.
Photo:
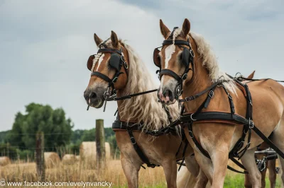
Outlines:
{"label": "line of green trees on the horizon behind the hay field", "polygon": [[[82,141],[95,141],[96,129],[73,131],[73,127],[74,124],[71,119],[66,119],[62,108],[53,110],[49,105],[31,103],[26,106],[26,114],[16,114],[10,131],[0,132],[0,156],[33,159],[38,131],[44,133],[45,151],[79,154]],[[111,150],[116,150],[114,131],[104,128],[104,133]]]}

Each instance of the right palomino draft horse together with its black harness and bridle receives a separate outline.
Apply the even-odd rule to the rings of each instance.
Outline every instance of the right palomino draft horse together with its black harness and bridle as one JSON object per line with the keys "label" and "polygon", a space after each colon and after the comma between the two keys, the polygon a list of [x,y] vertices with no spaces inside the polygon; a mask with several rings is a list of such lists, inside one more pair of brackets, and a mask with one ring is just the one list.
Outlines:
{"label": "right palomino draft horse together with its black harness and bridle", "polygon": [[[160,67],[158,98],[173,104],[182,94],[178,120],[185,123],[187,140],[212,187],[223,187],[226,165],[234,156],[241,158],[252,187],[261,187],[254,151],[270,136],[277,147],[270,146],[283,157],[284,87],[271,79],[242,84],[222,73],[209,44],[190,33],[187,19],[172,32],[160,20],[160,32],[165,40],[153,57]],[[284,170],[283,158],[280,163]]]}

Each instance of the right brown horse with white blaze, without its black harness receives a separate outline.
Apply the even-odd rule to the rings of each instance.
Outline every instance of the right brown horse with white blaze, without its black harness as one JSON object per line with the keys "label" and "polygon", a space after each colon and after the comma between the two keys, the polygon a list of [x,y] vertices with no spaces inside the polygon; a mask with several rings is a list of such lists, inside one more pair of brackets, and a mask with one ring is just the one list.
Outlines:
{"label": "right brown horse with white blaze, without its black harness", "polygon": [[[155,64],[158,64],[157,59],[160,59],[161,69],[169,69],[178,76],[182,76],[185,70],[190,70],[187,77],[183,81],[182,98],[200,93],[217,83],[220,79],[224,82],[224,87],[229,92],[226,94],[224,88],[217,87],[214,90],[214,96],[208,94],[201,95],[195,100],[185,102],[185,112],[195,112],[207,98],[211,96],[212,100],[209,106],[203,109],[202,112],[231,112],[228,98],[234,102],[236,114],[240,117],[246,116],[246,98],[243,90],[239,88],[233,79],[219,70],[217,58],[209,47],[208,42],[201,35],[190,33],[190,21],[185,19],[182,28],[175,29],[173,33],[160,20],[160,32],[165,39],[172,37],[173,41],[182,40],[190,42],[190,47],[194,52],[194,67],[192,64],[183,64],[182,55],[183,49],[189,48],[187,45],[165,44],[158,53],[159,57],[154,57]],[[172,41],[172,43],[173,43]],[[193,56],[193,55],[192,55]],[[155,59],[157,58],[157,59]],[[271,140],[281,151],[284,151],[284,87],[273,80],[253,81],[247,83],[253,99],[253,122],[261,130],[265,136],[271,135]],[[178,81],[169,74],[164,74],[160,81],[158,97],[161,102],[173,104],[176,100],[175,93],[178,93],[176,86]],[[180,89],[180,88],[179,88]],[[192,134],[188,133],[185,127],[185,134],[190,145],[195,150],[195,158],[197,163],[202,168],[202,171],[208,177],[212,187],[223,187],[224,177],[226,175],[226,164],[229,160],[229,152],[235,146],[235,143],[241,138],[243,125],[234,122],[194,122],[192,132],[195,138],[200,143],[204,151],[207,152],[209,158],[202,155],[199,149],[196,148],[192,141]],[[263,140],[253,132],[249,150],[246,151],[241,158],[246,170],[249,172],[252,187],[261,187],[261,173],[259,172],[254,158],[256,146],[261,144]],[[247,143],[247,136],[245,143]],[[246,144],[244,144],[244,147]],[[282,168],[284,168],[284,160],[280,158]],[[284,176],[282,176],[284,180]]]}

